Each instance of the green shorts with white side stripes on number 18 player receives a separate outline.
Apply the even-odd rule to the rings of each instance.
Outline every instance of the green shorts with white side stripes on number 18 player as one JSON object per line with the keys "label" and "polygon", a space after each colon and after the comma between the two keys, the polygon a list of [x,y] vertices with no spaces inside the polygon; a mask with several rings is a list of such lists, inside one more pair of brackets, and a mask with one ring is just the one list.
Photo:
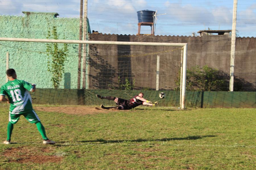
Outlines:
{"label": "green shorts with white side stripes on number 18 player", "polygon": [[11,112],[9,112],[9,122],[11,122],[12,124],[17,123],[20,118],[20,115],[23,115],[30,123],[40,122],[40,119],[34,110],[22,112],[19,114],[11,114]]}

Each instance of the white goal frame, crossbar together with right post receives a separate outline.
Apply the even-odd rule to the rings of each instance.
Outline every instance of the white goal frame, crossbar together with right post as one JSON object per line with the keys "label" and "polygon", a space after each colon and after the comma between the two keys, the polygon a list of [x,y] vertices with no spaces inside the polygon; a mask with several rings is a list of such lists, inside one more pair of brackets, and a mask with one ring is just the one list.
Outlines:
{"label": "white goal frame, crossbar together with right post", "polygon": [[18,42],[46,42],[46,43],[70,43],[70,44],[108,44],[108,45],[138,45],[138,46],[181,46],[182,51],[182,72],[181,72],[181,96],[180,107],[185,109],[186,92],[186,61],[187,61],[187,43],[169,43],[169,42],[123,42],[123,41],[82,41],[82,40],[55,40],[55,39],[26,39],[26,38],[6,38],[0,37],[0,41],[18,41]]}

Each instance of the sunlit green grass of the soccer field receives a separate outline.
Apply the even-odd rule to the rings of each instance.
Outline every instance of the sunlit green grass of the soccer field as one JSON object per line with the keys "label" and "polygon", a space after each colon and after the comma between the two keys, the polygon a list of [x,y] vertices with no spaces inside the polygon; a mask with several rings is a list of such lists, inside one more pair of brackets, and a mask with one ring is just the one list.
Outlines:
{"label": "sunlit green grass of the soccer field", "polygon": [[[2,141],[7,107],[0,105]],[[57,144],[43,145],[36,126],[21,117],[13,129],[14,144],[0,144],[0,169],[255,169],[255,113],[161,107],[87,115],[37,111]],[[25,151],[5,155],[15,148]],[[62,160],[18,162],[28,155]]]}

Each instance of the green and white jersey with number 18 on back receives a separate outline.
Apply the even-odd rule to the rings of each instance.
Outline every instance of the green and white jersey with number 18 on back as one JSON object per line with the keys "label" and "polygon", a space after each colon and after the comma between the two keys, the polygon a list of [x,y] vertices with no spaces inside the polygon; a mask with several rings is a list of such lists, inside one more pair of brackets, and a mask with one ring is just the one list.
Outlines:
{"label": "green and white jersey with number 18 on back", "polygon": [[11,114],[32,111],[32,99],[28,90],[33,86],[24,80],[15,79],[5,83],[0,90],[0,95],[7,95],[10,101]]}

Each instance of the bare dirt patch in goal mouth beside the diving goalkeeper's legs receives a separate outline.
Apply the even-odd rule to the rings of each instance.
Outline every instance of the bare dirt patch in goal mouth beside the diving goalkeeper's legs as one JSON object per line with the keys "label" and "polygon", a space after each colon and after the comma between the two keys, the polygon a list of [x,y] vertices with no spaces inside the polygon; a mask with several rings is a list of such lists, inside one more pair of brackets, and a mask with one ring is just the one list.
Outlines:
{"label": "bare dirt patch in goal mouth beside the diving goalkeeper's legs", "polygon": [[45,112],[58,112],[67,114],[97,114],[97,113],[108,113],[116,110],[100,109],[100,107],[92,106],[63,106],[63,107],[33,107],[35,111]]}

